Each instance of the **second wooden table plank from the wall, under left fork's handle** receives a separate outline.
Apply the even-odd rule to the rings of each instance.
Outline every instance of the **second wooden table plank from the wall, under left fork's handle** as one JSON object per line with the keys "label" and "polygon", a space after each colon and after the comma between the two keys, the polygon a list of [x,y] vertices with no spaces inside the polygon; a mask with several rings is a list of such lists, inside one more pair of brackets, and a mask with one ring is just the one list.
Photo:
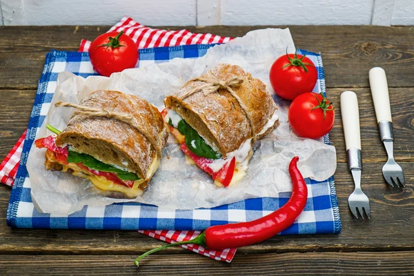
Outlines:
{"label": "second wooden table plank from the wall, under left fork's handle", "polygon": [[[336,120],[331,131],[331,144],[336,147],[337,161],[346,162],[346,150],[339,104],[341,92],[350,88],[328,89],[328,99],[337,105]],[[368,88],[351,88],[359,100],[361,121],[362,158],[364,162],[385,162],[387,155],[380,141],[371,91]],[[3,90],[0,101],[0,158],[6,156],[21,133],[26,129],[32,104],[34,90]],[[395,128],[395,159],[397,161],[414,161],[414,116],[410,107],[414,106],[414,88],[391,88],[391,111]]]}

